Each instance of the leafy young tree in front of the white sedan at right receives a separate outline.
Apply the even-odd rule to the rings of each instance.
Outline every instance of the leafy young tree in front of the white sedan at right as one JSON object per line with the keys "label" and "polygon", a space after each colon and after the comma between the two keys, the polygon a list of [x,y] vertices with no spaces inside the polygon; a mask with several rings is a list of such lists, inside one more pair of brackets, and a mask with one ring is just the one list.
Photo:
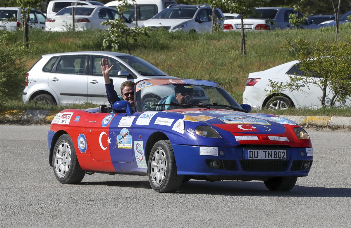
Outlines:
{"label": "leafy young tree in front of the white sedan at right", "polygon": [[332,97],[330,106],[336,101],[341,101],[351,95],[351,41],[334,41],[327,44],[318,40],[315,47],[298,38],[295,42],[287,40],[287,47],[298,51],[297,58],[300,62],[300,70],[304,75],[289,76],[287,83],[270,80],[270,94],[282,91],[301,91],[301,87],[313,84],[322,90],[321,105],[326,107],[326,95],[330,89]]}

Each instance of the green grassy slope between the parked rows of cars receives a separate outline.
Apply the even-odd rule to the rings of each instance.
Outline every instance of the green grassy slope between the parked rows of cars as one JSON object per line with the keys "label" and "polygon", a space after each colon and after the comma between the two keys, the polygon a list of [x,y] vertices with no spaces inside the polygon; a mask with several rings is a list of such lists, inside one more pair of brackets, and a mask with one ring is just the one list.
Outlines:
{"label": "green grassy slope between the parked rows of cars", "polygon": [[[4,31],[0,30],[1,32]],[[335,33],[335,28],[246,32],[247,55],[241,56],[240,32],[168,33],[161,29],[151,32],[150,38],[141,37],[138,42],[131,42],[131,54],[143,58],[171,76],[216,81],[238,103],[242,103],[245,83],[250,72],[266,70],[295,60],[296,53],[283,47],[286,39],[294,40],[301,37],[311,44],[315,44],[318,39],[332,43],[335,40]],[[351,23],[340,25],[338,39],[344,41],[346,35],[349,34],[351,34]],[[109,51],[111,49],[102,47],[105,36],[107,33],[104,30],[44,32],[40,29],[30,29],[31,54],[25,57],[27,68],[29,69],[44,54],[69,51]],[[15,43],[22,37],[22,31],[16,31],[11,33],[8,42]],[[121,52],[127,53],[126,46]],[[22,107],[28,107],[29,104],[26,105],[22,104]],[[7,107],[15,106],[15,104],[7,105]],[[33,106],[29,109],[36,108]],[[38,109],[43,108],[38,107]],[[51,110],[55,109],[60,108],[51,108]],[[263,110],[265,111],[267,110]],[[299,112],[302,111],[296,111],[296,113]],[[306,109],[303,112],[315,112],[322,115],[319,109]],[[343,115],[350,116],[349,109],[346,109],[345,113],[347,112],[349,114]]]}

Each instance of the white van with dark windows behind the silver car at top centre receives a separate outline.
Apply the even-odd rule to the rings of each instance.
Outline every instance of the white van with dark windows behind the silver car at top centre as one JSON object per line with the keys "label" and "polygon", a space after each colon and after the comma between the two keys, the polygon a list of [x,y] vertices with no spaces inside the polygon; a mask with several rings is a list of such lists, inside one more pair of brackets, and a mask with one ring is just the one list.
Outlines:
{"label": "white van with dark windows behind the silver car at top centre", "polygon": [[[163,11],[169,5],[177,4],[174,0],[135,0],[137,3],[137,17],[138,17],[138,26],[141,27],[143,22],[153,18],[156,14]],[[132,18],[135,21],[135,12],[133,1],[128,0],[128,3],[132,6],[129,8],[128,12],[123,13],[126,18]],[[120,4],[120,1],[112,1],[105,4],[105,6],[110,6],[116,8]]]}

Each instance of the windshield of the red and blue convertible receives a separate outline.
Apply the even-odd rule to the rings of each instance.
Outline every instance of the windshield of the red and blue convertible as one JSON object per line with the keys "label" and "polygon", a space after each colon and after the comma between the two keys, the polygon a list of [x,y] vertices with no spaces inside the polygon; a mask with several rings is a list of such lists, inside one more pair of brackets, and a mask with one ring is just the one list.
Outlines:
{"label": "windshield of the red and blue convertible", "polygon": [[[211,81],[151,79],[135,86],[139,110],[205,108],[243,111],[219,84]],[[152,102],[150,98],[145,99],[155,91],[161,96],[152,96]]]}

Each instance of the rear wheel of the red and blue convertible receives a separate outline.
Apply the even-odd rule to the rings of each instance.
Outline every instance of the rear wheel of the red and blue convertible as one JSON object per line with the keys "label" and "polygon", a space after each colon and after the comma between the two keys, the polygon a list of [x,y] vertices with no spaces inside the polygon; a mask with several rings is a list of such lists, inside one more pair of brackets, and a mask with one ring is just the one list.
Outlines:
{"label": "rear wheel of the red and blue convertible", "polygon": [[71,137],[63,134],[56,142],[52,155],[55,177],[61,184],[78,184],[85,175],[78,163]]}

